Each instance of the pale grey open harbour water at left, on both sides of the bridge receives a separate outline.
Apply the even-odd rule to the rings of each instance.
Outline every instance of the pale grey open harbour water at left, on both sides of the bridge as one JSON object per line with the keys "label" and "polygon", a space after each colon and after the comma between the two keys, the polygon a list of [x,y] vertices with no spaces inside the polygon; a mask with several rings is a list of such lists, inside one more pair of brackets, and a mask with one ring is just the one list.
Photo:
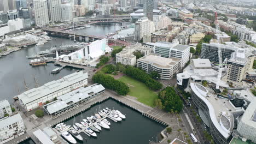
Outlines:
{"label": "pale grey open harbour water at left, on both sides of the bridge", "polygon": [[[90,28],[83,29],[81,32],[88,33],[89,35],[102,35],[113,33],[115,29],[117,30],[120,27],[121,26],[119,24],[91,25]],[[44,45],[26,47],[19,51],[10,53],[7,56],[1,57],[0,100],[7,99],[9,103],[13,103],[13,97],[18,95],[18,89],[20,92],[26,91],[24,86],[24,79],[26,81],[27,87],[32,89],[36,86],[34,77],[36,78],[39,86],[42,86],[46,82],[57,80],[60,79],[60,77],[74,73],[74,69],[65,68],[61,70],[59,74],[49,74],[51,70],[56,68],[53,63],[48,63],[47,65],[41,65],[38,67],[31,67],[31,65],[28,65],[30,60],[27,59],[26,56],[33,55],[39,51],[50,49],[50,47],[54,47],[55,45],[59,47],[62,44],[66,45],[75,43],[69,39],[53,38],[53,40]]]}

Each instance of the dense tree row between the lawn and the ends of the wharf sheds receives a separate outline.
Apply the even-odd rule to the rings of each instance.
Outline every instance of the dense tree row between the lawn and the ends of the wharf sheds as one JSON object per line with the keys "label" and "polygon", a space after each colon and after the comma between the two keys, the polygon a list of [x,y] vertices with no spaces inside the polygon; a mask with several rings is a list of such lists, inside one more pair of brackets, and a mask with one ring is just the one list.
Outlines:
{"label": "dense tree row between the lawn and the ends of the wharf sheds", "polygon": [[129,93],[129,87],[121,81],[115,80],[112,76],[97,73],[92,76],[92,81],[100,83],[103,87],[112,89],[120,95],[126,95]]}

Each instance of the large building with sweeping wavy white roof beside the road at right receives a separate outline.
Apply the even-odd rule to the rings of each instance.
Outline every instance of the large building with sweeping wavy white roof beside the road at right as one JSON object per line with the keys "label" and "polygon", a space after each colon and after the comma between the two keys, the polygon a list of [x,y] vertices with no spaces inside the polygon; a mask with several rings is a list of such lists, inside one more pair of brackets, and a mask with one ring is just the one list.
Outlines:
{"label": "large building with sweeping wavy white roof beside the road at right", "polygon": [[198,83],[191,82],[190,87],[192,102],[199,110],[203,123],[210,128],[214,142],[228,144],[232,139],[234,115],[241,115],[241,107],[236,109],[229,99],[218,98]]}

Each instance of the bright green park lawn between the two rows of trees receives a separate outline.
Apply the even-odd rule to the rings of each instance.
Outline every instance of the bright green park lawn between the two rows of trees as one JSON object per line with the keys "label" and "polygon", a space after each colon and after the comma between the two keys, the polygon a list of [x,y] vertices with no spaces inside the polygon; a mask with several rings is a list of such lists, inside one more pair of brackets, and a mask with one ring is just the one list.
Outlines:
{"label": "bright green park lawn between the two rows of trees", "polygon": [[130,87],[129,95],[136,97],[143,104],[151,107],[155,106],[155,100],[158,99],[158,95],[151,91],[144,83],[132,79],[129,76],[122,76],[118,80],[123,81]]}

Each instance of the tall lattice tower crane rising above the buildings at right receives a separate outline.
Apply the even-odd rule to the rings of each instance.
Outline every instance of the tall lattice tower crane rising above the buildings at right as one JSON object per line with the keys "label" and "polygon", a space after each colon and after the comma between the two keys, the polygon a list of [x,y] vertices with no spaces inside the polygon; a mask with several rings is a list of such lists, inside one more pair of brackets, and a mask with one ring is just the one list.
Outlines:
{"label": "tall lattice tower crane rising above the buildings at right", "polygon": [[217,43],[218,43],[218,56],[219,56],[219,71],[218,71],[218,77],[216,82],[216,89],[219,89],[220,79],[222,78],[222,70],[223,70],[223,67],[225,67],[226,65],[227,58],[224,59],[224,62],[222,61],[222,48],[220,48],[219,46],[219,44],[222,43],[222,41],[220,41],[220,36],[222,35],[222,32],[220,32],[220,28],[219,28],[217,11],[214,12],[214,14],[215,14],[216,37],[217,37]]}

